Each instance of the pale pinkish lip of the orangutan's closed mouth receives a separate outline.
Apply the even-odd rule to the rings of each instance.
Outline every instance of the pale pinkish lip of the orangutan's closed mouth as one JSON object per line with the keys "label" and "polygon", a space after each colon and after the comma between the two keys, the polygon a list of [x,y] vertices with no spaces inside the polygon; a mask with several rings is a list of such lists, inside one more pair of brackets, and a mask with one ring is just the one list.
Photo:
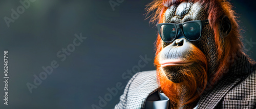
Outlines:
{"label": "pale pinkish lip of the orangutan's closed mouth", "polygon": [[178,60],[178,59],[169,59],[169,60],[164,60],[160,61],[161,67],[166,67],[166,66],[188,66],[193,64],[194,62],[191,61],[184,61],[184,60]]}

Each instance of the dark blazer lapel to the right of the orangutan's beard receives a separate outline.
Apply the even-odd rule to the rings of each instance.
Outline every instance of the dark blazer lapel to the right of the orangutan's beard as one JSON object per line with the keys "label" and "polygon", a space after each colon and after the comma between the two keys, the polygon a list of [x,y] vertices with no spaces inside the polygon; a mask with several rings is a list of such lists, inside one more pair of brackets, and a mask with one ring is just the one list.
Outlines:
{"label": "dark blazer lapel to the right of the orangutan's beard", "polygon": [[241,80],[241,75],[247,75],[250,72],[250,63],[246,56],[242,55],[236,64],[231,65],[230,72],[225,75],[211,89],[206,90],[202,96],[198,108],[215,108],[221,99]]}

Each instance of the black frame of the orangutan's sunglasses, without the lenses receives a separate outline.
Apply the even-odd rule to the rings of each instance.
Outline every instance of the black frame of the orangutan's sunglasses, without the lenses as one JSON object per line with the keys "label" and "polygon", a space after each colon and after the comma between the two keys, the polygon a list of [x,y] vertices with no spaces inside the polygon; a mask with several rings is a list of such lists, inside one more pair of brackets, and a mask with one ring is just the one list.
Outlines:
{"label": "black frame of the orangutan's sunglasses, without the lenses", "polygon": [[[161,35],[161,31],[160,31],[161,26],[163,26],[163,25],[173,25],[173,26],[175,27],[175,29],[176,29],[176,33],[175,33],[175,37],[174,37],[174,39],[173,39],[172,41],[174,41],[174,40],[176,39],[176,37],[177,37],[177,35],[178,35],[178,29],[181,29],[182,34],[184,35],[184,37],[185,37],[187,40],[189,40],[189,41],[196,41],[196,40],[198,40],[198,39],[190,40],[190,39],[188,39],[188,38],[185,36],[184,31],[183,31],[183,26],[184,26],[185,24],[188,24],[188,23],[197,23],[197,24],[199,24],[199,26],[200,26],[200,36],[199,36],[198,39],[200,39],[200,38],[201,38],[201,34],[202,34],[202,27],[203,27],[204,25],[209,24],[209,19],[206,19],[206,20],[187,21],[187,22],[181,23],[181,24],[174,24],[174,23],[161,23],[161,24],[157,24],[158,33],[159,33],[161,39],[163,40],[162,35]],[[164,40],[163,40],[163,41],[164,41]],[[164,41],[164,42],[172,42],[172,41]]]}

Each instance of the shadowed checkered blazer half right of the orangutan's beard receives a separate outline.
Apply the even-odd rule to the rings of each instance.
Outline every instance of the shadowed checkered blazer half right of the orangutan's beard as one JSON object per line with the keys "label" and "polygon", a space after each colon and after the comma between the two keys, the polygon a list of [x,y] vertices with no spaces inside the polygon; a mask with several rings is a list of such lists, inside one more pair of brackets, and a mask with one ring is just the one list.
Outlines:
{"label": "shadowed checkered blazer half right of the orangutan's beard", "polygon": [[256,71],[245,56],[214,89],[205,91],[198,108],[255,108]]}

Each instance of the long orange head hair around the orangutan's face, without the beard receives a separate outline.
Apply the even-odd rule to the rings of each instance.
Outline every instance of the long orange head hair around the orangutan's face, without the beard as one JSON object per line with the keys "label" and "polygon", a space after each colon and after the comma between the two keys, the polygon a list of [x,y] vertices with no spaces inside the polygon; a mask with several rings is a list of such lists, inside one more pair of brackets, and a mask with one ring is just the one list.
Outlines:
{"label": "long orange head hair around the orangutan's face, without the beard", "polygon": [[[146,11],[147,15],[152,12],[151,15],[148,15],[148,17],[151,17],[151,23],[163,23],[164,13],[166,9],[173,4],[179,4],[183,1],[186,0],[155,0],[152,3],[148,4]],[[188,0],[188,2],[199,2],[202,6],[204,6],[205,9],[208,10],[209,24],[210,28],[214,30],[218,61],[220,61],[220,63],[218,63],[218,68],[215,73],[208,75],[209,77],[211,77],[211,81],[209,82],[211,84],[214,84],[216,81],[218,81],[218,79],[220,79],[220,77],[223,76],[223,73],[228,70],[227,68],[229,68],[230,64],[232,64],[233,62],[230,62],[230,60],[234,60],[234,58],[239,54],[245,55],[242,51],[243,45],[240,40],[242,37],[239,34],[240,30],[237,23],[237,16],[235,16],[234,14],[236,13],[231,10],[232,6],[230,5],[230,3],[223,0]],[[220,24],[222,20],[221,18],[224,15],[229,18],[232,30],[225,38],[222,38],[220,37]],[[159,35],[155,42],[155,47],[157,56],[162,50],[161,38]],[[155,64],[157,64],[157,59],[158,58],[155,58]],[[254,62],[250,58],[249,61],[251,63]]]}

